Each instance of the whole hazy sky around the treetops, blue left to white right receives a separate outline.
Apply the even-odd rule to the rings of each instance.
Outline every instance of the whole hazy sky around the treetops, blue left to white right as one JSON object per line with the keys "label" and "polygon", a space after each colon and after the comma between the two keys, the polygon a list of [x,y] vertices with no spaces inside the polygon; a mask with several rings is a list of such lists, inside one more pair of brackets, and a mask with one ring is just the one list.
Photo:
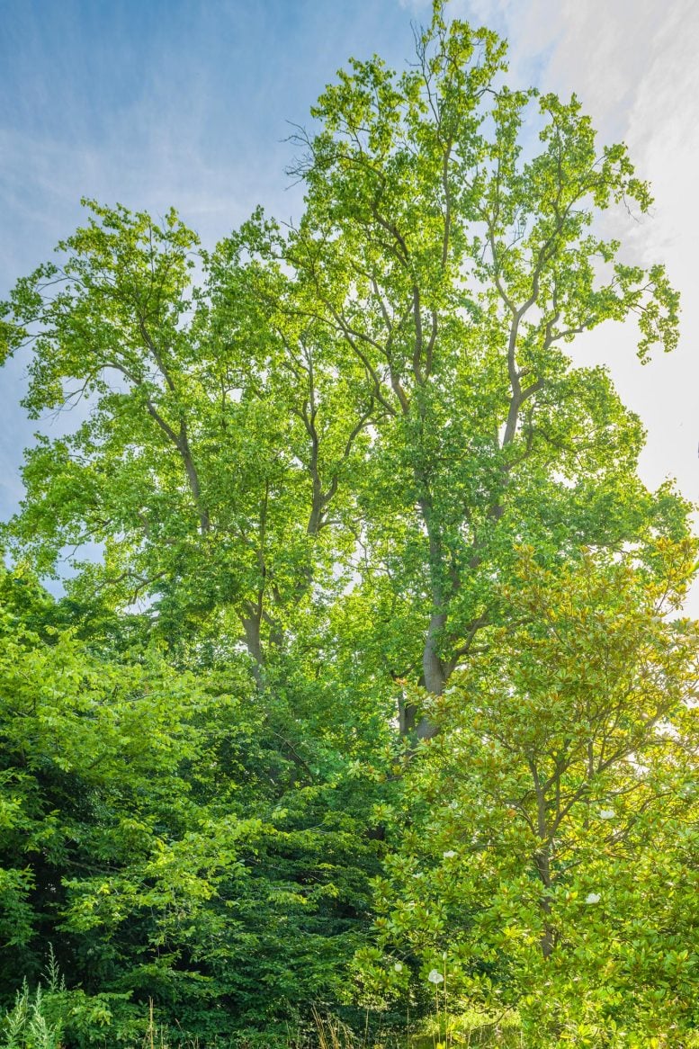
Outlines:
{"label": "whole hazy sky around the treetops, blue left to white right", "polygon": [[[284,142],[338,67],[402,65],[422,0],[0,0],[0,298],[80,222],[81,196],[162,214],[174,205],[212,243],[256,204],[297,215]],[[633,330],[602,327],[575,356],[607,363],[643,419],[655,487],[699,499],[699,4],[696,0],[451,0],[510,41],[512,82],[575,91],[602,138],[623,138],[651,180],[636,257],[682,294],[680,348],[641,367]],[[21,496],[35,423],[0,376],[0,517]],[[49,429],[50,432],[50,429]],[[697,607],[699,613],[699,598]]]}

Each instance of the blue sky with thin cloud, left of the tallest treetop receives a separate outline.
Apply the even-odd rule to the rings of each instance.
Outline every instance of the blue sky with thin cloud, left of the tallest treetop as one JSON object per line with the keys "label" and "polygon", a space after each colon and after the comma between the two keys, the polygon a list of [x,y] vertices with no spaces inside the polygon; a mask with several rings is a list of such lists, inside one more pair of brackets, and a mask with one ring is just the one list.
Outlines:
{"label": "blue sky with thin cloud, left of the tallest treetop", "polygon": [[153,210],[174,202],[204,236],[260,199],[293,209],[285,122],[306,120],[348,53],[378,46],[398,62],[410,45],[395,0],[0,8],[3,287],[72,228],[81,195]]}

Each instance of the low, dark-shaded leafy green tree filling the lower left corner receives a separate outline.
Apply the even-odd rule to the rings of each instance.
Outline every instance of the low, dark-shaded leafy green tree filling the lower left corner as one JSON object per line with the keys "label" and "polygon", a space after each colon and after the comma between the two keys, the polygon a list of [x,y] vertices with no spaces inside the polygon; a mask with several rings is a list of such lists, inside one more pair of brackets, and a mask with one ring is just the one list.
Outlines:
{"label": "low, dark-shaded leafy green tree filling the lower left corner", "polygon": [[362,777],[272,730],[239,659],[109,656],[26,573],[0,591],[0,1003],[52,944],[70,1046],[140,1043],[149,1000],[173,1039],[285,1044],[364,939]]}

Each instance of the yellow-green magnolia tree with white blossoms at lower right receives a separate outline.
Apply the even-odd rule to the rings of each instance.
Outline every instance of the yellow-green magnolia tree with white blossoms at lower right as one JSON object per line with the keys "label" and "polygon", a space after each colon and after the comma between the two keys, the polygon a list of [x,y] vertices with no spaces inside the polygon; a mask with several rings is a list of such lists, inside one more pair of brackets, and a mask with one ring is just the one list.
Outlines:
{"label": "yellow-green magnolia tree with white blossoms at lower right", "polygon": [[657,558],[660,581],[633,555],[553,574],[522,551],[517,623],[432,702],[374,981],[446,970],[452,1007],[516,1008],[542,1046],[696,1028],[699,636],[675,618],[694,549]]}

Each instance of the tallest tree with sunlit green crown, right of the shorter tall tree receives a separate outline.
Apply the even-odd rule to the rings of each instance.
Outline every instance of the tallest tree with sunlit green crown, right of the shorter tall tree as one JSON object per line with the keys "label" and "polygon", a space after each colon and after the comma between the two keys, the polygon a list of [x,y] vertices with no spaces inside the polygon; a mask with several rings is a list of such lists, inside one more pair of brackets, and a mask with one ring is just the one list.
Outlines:
{"label": "tallest tree with sunlit green crown, right of the shorter tall tree", "polygon": [[299,136],[306,212],[287,254],[382,409],[364,530],[437,694],[490,621],[513,541],[618,543],[643,527],[620,512],[630,491],[653,513],[638,421],[565,344],[634,315],[641,359],[677,338],[662,267],[622,263],[597,229],[614,204],[651,202],[626,148],[598,148],[574,98],[504,86],[504,55],[437,3],[407,72],[352,63]]}

